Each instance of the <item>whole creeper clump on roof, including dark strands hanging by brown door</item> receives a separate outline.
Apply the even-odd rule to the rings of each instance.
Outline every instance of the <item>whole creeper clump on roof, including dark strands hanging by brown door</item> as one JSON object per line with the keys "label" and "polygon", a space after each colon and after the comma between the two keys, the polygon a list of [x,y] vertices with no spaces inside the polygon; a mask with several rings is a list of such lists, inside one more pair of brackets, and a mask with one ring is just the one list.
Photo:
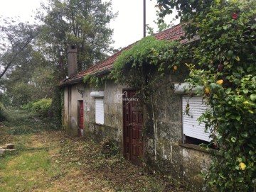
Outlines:
{"label": "whole creeper clump on roof, including dark strands hanging by brown door", "polygon": [[124,50],[114,62],[111,77],[121,84],[137,90],[142,101],[149,101],[154,92],[155,81],[165,74],[178,72],[175,63],[170,64],[170,55],[176,54],[178,42],[156,40],[148,36]]}

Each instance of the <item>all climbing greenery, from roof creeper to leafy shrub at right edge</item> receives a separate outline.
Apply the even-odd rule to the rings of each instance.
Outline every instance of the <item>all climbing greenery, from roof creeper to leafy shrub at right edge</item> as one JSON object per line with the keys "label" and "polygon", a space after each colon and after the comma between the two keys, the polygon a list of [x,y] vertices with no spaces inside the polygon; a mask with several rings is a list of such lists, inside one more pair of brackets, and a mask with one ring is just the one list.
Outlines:
{"label": "all climbing greenery, from roof creeper to leafy shrub at right edge", "polygon": [[[211,110],[200,118],[218,148],[206,174],[216,191],[256,190],[256,1],[158,0],[160,16],[176,7],[185,21],[180,45],[144,38],[114,62],[112,78],[149,98],[154,81],[178,74],[203,86]],[[161,21],[161,20],[160,20]]]}

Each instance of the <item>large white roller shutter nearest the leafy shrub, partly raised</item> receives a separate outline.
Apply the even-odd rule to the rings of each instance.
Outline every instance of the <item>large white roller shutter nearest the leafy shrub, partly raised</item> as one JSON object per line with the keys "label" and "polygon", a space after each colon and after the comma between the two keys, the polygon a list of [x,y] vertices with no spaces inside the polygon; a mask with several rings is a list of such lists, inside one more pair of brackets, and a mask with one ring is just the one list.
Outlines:
{"label": "large white roller shutter nearest the leafy shrub, partly raised", "polygon": [[[188,102],[189,99],[189,102]],[[185,113],[186,105],[189,104],[188,115]],[[208,106],[205,105],[202,97],[182,96],[182,124],[183,135],[193,137],[199,140],[210,142],[209,133],[205,132],[205,123],[199,125],[198,118],[206,111]]]}

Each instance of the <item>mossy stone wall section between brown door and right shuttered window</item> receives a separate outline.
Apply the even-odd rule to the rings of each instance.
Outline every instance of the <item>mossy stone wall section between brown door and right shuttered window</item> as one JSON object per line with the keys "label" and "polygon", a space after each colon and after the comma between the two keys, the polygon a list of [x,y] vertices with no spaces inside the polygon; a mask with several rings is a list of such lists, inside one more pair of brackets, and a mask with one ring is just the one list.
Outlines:
{"label": "mossy stone wall section between brown door and right shuttered window", "polygon": [[[207,170],[210,155],[182,144],[181,95],[174,94],[174,83],[182,79],[166,77],[156,83],[151,104],[145,107],[146,161],[155,169],[173,176],[193,191],[203,186],[202,170]],[[155,137],[156,136],[156,137]]]}

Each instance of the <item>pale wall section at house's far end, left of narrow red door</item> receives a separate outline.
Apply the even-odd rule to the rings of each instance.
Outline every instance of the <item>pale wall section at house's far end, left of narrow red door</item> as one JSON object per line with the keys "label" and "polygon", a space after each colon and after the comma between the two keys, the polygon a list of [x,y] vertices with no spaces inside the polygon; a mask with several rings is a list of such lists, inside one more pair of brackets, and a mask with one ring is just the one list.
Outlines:
{"label": "pale wall section at house's far end, left of narrow red door", "polygon": [[78,89],[84,91],[85,87],[83,84],[75,84],[64,89],[63,126],[73,135],[78,135],[78,108],[79,101],[83,100]]}

